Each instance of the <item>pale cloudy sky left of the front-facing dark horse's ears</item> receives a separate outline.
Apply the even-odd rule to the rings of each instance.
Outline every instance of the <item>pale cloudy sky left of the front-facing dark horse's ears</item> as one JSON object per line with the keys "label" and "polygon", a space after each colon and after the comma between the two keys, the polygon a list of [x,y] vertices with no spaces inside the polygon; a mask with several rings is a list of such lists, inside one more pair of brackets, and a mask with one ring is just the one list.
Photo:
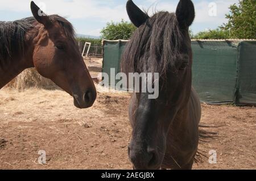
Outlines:
{"label": "pale cloudy sky left of the front-facing dark horse's ears", "polygon": [[[102,1],[91,0],[44,0],[35,1],[37,5],[45,3],[47,14],[59,14],[62,16],[68,16],[68,18],[98,18],[102,21],[119,21],[121,19],[128,20],[128,16],[125,11],[125,4],[119,6],[104,6]],[[0,1],[0,10],[10,10],[16,12],[28,12],[30,11],[30,1],[27,0],[9,0]],[[108,1],[111,3],[111,1]]]}

